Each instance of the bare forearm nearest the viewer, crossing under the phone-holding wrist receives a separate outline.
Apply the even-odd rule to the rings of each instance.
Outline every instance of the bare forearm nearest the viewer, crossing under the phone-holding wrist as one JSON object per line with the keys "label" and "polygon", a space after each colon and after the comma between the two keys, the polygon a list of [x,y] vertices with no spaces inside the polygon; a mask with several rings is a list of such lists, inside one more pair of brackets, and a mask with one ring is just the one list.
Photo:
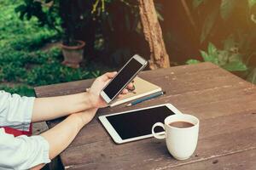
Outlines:
{"label": "bare forearm nearest the viewer, crossing under the phone-holding wrist", "polygon": [[63,122],[49,129],[41,136],[49,142],[49,158],[53,159],[73,141],[79,130],[91,121],[96,109],[68,116]]}

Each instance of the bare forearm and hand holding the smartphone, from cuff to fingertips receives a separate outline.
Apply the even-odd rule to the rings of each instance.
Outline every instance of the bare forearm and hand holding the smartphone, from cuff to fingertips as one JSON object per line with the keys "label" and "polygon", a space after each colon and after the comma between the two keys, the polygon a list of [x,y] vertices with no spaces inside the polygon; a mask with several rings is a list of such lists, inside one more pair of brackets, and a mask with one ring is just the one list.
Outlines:
{"label": "bare forearm and hand holding the smartphone, from cuff to fingertips", "polygon": [[[52,120],[57,117],[67,116],[89,109],[106,107],[107,104],[100,96],[100,93],[102,88],[104,88],[116,74],[117,72],[108,72],[101,77],[97,77],[91,88],[87,91],[88,93],[83,92],[79,94],[35,99],[32,110],[32,122]],[[132,87],[133,85],[130,83],[128,88],[131,89]],[[125,89],[119,97],[127,93],[128,90]],[[90,115],[94,116],[93,114]]]}

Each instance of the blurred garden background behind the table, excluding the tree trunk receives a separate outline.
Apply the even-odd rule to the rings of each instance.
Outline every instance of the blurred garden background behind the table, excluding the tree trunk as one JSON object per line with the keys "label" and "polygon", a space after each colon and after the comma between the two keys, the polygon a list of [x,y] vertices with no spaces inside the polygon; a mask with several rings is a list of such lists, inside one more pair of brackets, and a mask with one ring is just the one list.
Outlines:
{"label": "blurred garden background behind the table, excluding the tree trunk", "polygon": [[[256,82],[255,3],[154,0],[170,66],[209,61]],[[33,96],[36,86],[118,70],[133,54],[150,59],[139,5],[135,0],[1,0],[0,89]]]}

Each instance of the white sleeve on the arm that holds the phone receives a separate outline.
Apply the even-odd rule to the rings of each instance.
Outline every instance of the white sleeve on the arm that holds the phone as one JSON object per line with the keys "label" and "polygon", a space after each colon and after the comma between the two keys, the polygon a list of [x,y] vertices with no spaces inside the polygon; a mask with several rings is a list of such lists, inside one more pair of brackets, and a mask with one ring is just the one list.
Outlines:
{"label": "white sleeve on the arm that holds the phone", "polygon": [[0,127],[27,131],[32,119],[34,99],[0,91]]}

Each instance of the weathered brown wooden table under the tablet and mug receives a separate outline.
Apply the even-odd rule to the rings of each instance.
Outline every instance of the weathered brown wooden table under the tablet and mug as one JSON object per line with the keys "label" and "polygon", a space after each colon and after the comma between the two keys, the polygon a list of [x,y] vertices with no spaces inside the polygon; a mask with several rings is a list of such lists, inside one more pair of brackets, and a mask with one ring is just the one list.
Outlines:
{"label": "weathered brown wooden table under the tablet and mug", "polygon": [[[120,105],[98,111],[61,153],[66,169],[256,169],[256,90],[251,83],[210,63],[143,71],[140,77],[162,87],[166,95],[129,108]],[[91,82],[67,82],[35,90],[38,97],[74,94],[83,92]],[[164,140],[114,144],[97,119],[163,103],[172,103],[201,120],[197,149],[189,160],[172,158]],[[49,122],[49,127],[58,122]]]}

